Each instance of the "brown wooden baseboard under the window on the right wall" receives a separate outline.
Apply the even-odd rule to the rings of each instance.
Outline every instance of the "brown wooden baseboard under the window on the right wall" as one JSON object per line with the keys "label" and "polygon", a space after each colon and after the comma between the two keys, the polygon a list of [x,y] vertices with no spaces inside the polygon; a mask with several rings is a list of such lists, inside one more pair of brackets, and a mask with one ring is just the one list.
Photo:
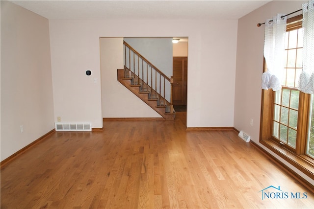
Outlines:
{"label": "brown wooden baseboard under the window on the right wall", "polygon": [[306,181],[302,176],[297,174],[295,171],[293,171],[291,168],[289,168],[286,164],[279,161],[277,158],[272,156],[269,152],[264,150],[260,145],[255,143],[254,141],[250,141],[250,144],[252,144],[254,147],[256,147],[258,150],[260,150],[266,157],[268,157],[273,163],[277,164],[282,170],[284,170],[288,175],[293,177],[296,181],[298,181],[301,185],[305,186],[307,189],[309,189],[311,192],[314,193],[314,185],[310,184],[308,181]]}

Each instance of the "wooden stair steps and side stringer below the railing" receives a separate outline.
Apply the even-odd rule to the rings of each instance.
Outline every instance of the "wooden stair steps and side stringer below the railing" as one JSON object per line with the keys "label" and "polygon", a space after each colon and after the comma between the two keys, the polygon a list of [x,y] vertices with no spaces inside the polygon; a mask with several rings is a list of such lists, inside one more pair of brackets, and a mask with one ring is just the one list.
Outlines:
{"label": "wooden stair steps and side stringer below the railing", "polygon": [[176,116],[173,106],[152,87],[139,78],[134,72],[118,69],[118,81],[155,110],[166,120],[173,120]]}

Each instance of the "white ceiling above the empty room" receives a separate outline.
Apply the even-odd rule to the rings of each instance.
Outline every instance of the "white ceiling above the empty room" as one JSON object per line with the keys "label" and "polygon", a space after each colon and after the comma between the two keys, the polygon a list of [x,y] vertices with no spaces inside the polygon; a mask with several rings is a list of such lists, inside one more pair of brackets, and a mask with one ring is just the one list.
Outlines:
{"label": "white ceiling above the empty room", "polygon": [[47,19],[237,20],[270,0],[11,0]]}

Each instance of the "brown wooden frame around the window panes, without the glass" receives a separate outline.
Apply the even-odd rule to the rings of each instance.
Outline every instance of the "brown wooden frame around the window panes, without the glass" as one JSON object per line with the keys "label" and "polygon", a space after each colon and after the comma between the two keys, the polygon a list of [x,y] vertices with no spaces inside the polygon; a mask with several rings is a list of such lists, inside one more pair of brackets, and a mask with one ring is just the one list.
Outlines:
{"label": "brown wooden frame around the window panes, without the glass", "polygon": [[[296,22],[297,23],[293,23]],[[302,22],[302,15],[289,18],[287,23],[292,23],[287,30],[299,27]],[[266,70],[266,62],[263,62],[263,72]],[[261,127],[260,143],[272,152],[292,164],[304,174],[314,179],[314,159],[306,155],[307,135],[309,128],[309,114],[311,105],[311,94],[300,92],[299,113],[297,125],[297,142],[295,150],[289,149],[286,145],[279,143],[278,139],[272,136],[274,95],[272,90],[262,90]]]}

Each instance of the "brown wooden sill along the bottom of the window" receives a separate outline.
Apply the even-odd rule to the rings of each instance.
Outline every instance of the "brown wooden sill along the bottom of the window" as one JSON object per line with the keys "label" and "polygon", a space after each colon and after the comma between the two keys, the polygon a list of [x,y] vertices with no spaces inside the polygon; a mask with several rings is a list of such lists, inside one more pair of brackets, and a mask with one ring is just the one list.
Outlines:
{"label": "brown wooden sill along the bottom of the window", "polygon": [[314,179],[314,163],[312,159],[305,155],[295,155],[270,139],[260,140],[260,142],[262,145],[279,155],[288,163],[302,171],[305,175],[309,176],[311,179]]}

